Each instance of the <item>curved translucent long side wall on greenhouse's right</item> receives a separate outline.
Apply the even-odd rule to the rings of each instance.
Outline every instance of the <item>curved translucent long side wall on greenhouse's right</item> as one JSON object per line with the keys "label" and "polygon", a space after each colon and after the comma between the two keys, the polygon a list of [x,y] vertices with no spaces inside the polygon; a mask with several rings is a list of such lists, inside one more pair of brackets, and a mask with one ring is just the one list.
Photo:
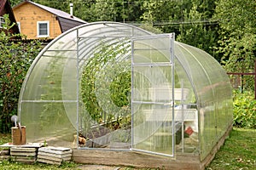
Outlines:
{"label": "curved translucent long side wall on greenhouse's right", "polygon": [[[231,125],[231,87],[223,68],[201,49],[178,42],[175,54],[188,72],[199,107],[201,160]],[[219,108],[223,107],[222,110]],[[229,115],[224,118],[225,115]]]}

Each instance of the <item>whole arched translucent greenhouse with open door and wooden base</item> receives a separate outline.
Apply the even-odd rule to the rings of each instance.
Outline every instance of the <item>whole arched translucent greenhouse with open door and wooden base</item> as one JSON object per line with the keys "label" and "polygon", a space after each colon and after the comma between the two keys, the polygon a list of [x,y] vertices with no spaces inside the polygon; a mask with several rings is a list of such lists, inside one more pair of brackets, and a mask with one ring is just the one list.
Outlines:
{"label": "whole arched translucent greenhouse with open door and wooden base", "polygon": [[71,147],[74,161],[196,169],[230,132],[232,91],[218,61],[174,33],[95,22],[38,54],[18,115],[28,142]]}

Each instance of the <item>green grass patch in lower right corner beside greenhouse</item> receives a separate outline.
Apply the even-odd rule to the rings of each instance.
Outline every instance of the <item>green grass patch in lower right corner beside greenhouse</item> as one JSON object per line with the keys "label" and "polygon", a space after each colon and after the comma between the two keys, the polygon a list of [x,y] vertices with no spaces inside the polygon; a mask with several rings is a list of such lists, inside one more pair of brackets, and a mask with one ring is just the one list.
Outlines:
{"label": "green grass patch in lower right corner beside greenhouse", "polygon": [[207,170],[256,169],[256,129],[233,128]]}

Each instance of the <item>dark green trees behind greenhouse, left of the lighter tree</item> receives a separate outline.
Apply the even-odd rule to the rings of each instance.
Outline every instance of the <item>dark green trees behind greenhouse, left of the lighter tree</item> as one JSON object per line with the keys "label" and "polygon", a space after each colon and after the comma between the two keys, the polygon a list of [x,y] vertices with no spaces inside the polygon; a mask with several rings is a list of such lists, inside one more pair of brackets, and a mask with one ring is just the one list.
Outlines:
{"label": "dark green trees behind greenhouse, left of the lighter tree", "polygon": [[[14,5],[19,1],[11,2]],[[212,25],[211,22],[218,0],[34,0],[33,2],[58,8],[67,13],[69,13],[69,3],[73,3],[73,14],[88,22],[104,20],[127,22],[154,33],[175,32],[178,41],[201,48],[216,57],[218,61],[222,56],[216,54],[216,49],[212,48],[218,48],[218,23],[214,22]]]}

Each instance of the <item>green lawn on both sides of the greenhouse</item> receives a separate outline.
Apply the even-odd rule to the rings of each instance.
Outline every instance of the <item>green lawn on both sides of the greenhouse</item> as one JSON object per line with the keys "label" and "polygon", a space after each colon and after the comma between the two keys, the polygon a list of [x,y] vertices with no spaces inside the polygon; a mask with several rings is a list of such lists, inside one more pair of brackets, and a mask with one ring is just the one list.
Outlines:
{"label": "green lawn on both sides of the greenhouse", "polygon": [[[0,134],[0,144],[10,142],[10,135]],[[32,165],[11,161],[0,161],[0,169],[79,169],[74,162],[63,163],[61,166],[35,163]],[[113,168],[114,169],[114,168]],[[122,167],[122,170],[135,169]],[[207,170],[256,170],[256,129],[233,128],[230,137],[218,151]]]}

